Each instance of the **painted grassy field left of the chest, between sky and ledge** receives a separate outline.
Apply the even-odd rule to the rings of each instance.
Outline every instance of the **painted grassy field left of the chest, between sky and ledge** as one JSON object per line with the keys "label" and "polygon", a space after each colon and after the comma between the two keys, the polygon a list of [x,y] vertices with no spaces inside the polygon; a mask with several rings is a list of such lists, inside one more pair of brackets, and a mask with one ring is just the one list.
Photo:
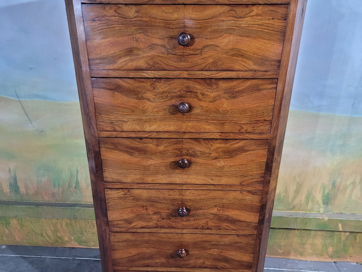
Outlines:
{"label": "painted grassy field left of the chest, between sky and ledge", "polygon": [[0,96],[0,200],[92,203],[79,102],[22,105]]}

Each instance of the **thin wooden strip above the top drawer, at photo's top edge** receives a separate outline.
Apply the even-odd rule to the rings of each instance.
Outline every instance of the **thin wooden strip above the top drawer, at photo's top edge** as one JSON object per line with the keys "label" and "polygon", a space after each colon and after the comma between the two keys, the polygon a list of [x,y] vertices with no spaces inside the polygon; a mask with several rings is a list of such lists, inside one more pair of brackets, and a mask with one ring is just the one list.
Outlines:
{"label": "thin wooden strip above the top drawer, at photo's top edge", "polygon": [[89,4],[289,4],[290,0],[82,0]]}

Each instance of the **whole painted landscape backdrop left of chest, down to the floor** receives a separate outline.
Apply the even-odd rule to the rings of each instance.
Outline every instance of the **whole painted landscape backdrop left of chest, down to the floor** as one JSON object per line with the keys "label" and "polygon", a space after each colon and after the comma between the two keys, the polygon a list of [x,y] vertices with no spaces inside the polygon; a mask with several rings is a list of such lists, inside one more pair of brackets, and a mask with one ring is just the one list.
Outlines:
{"label": "whole painted landscape backdrop left of chest, down to the floor", "polygon": [[96,247],[64,1],[0,17],[0,243]]}

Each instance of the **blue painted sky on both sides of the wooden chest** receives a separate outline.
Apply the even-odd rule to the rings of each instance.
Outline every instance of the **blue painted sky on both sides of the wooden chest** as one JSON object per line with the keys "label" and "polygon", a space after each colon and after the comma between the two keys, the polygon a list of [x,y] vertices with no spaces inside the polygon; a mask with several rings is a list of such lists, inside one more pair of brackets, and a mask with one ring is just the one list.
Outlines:
{"label": "blue painted sky on both sides of the wooden chest", "polygon": [[[292,109],[362,116],[360,1],[308,0]],[[0,18],[0,95],[78,100],[64,1],[0,0]]]}

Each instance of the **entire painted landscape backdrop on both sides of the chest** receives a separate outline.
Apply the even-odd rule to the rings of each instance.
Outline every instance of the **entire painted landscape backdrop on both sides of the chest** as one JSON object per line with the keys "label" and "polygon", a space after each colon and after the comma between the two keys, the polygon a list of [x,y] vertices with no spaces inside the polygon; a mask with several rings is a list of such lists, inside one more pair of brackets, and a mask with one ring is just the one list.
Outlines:
{"label": "entire painted landscape backdrop on both sides of the chest", "polygon": [[[308,0],[270,256],[362,261],[362,7]],[[0,0],[0,243],[96,247],[63,0]]]}

